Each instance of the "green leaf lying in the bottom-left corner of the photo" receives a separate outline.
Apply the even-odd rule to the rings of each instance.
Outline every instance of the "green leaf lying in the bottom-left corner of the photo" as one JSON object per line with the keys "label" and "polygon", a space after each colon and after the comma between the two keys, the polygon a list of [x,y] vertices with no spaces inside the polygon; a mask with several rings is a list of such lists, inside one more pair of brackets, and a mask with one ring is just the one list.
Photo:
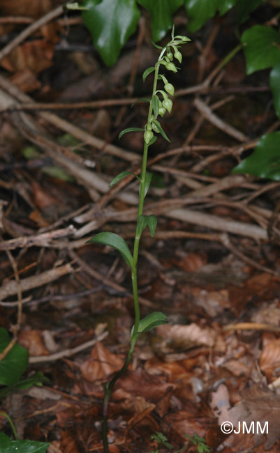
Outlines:
{"label": "green leaf lying in the bottom-left corner of the photo", "polygon": [[0,433],[0,445],[1,453],[45,453],[50,443],[37,440],[12,440],[6,434]]}

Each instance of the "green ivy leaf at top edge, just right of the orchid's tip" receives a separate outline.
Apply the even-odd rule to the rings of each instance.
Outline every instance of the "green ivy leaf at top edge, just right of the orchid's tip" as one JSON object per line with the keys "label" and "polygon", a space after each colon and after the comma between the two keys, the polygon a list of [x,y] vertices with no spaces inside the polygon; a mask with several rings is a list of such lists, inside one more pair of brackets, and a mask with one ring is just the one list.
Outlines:
{"label": "green ivy leaf at top edge, just right of the orchid's tip", "polygon": [[214,17],[218,9],[220,15],[223,15],[230,8],[233,8],[236,2],[237,0],[186,0],[185,7],[189,17],[189,31],[193,33],[201,29],[208,19]]}

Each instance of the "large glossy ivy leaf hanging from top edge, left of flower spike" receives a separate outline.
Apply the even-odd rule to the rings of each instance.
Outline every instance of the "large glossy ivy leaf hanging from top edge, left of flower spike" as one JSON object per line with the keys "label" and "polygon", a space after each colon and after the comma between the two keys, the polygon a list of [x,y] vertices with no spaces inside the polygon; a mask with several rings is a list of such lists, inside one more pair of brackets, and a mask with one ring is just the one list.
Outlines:
{"label": "large glossy ivy leaf hanging from top edge, left of flower spike", "polygon": [[112,66],[121,47],[135,32],[140,12],[135,0],[84,0],[82,6],[90,9],[82,12],[84,24],[89,29],[94,45],[107,66]]}

